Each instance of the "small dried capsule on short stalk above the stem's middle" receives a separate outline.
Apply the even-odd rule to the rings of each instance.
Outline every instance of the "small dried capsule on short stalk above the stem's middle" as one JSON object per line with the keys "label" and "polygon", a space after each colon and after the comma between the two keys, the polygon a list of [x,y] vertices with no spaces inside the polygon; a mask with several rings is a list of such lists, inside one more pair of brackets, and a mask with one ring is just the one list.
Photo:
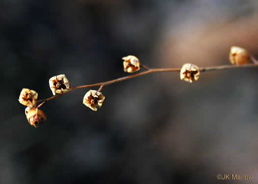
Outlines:
{"label": "small dried capsule on short stalk above the stem's middle", "polygon": [[140,70],[140,61],[134,55],[128,55],[122,58],[124,60],[124,70],[128,73],[133,73]]}

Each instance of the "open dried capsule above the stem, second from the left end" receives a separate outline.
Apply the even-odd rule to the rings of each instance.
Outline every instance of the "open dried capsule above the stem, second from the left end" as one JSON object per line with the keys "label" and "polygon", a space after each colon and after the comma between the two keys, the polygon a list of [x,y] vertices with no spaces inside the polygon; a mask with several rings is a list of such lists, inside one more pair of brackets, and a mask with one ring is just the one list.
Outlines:
{"label": "open dried capsule above the stem, second from the left end", "polygon": [[64,93],[70,89],[69,81],[65,75],[58,75],[50,78],[49,86],[53,95],[56,95],[57,93]]}

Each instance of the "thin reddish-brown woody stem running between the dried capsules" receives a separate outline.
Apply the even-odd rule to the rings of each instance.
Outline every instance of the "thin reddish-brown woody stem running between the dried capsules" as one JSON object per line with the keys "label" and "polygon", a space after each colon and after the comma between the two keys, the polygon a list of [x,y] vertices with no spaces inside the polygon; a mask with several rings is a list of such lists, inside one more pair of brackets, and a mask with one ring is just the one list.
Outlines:
{"label": "thin reddish-brown woody stem running between the dried capsules", "polygon": [[[143,65],[142,65],[143,66]],[[201,67],[200,72],[206,72],[206,71],[216,71],[216,70],[225,70],[225,69],[233,69],[233,68],[247,68],[247,67],[258,67],[258,63],[253,63],[253,64],[244,64],[244,65],[221,65],[221,66],[212,66],[212,67]],[[88,84],[88,85],[81,85],[81,86],[76,86],[76,87],[71,87],[68,91],[61,93],[61,94],[57,94],[55,96],[52,96],[48,99],[44,99],[44,100],[38,100],[37,104],[40,104],[39,106],[42,106],[44,103],[51,101],[61,95],[70,93],[74,90],[77,89],[84,89],[84,88],[88,88],[88,87],[95,87],[95,86],[100,86],[98,91],[101,91],[103,86],[112,84],[112,83],[116,83],[116,82],[121,82],[124,80],[128,80],[128,79],[132,79],[132,78],[137,78],[140,76],[144,76],[147,74],[152,74],[152,73],[157,73],[157,72],[180,72],[181,68],[155,68],[155,69],[151,69],[148,67],[144,67],[145,69],[147,69],[147,71],[138,73],[138,74],[134,74],[134,75],[130,75],[127,77],[123,77],[123,78],[118,78],[118,79],[113,79],[113,80],[108,80],[105,82],[100,82],[100,83],[95,83],[95,84]]]}

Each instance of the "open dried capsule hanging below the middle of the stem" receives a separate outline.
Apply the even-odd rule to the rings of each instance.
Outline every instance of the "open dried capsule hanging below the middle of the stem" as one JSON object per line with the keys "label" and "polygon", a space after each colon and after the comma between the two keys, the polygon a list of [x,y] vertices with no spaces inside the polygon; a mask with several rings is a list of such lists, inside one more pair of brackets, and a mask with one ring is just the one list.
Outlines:
{"label": "open dried capsule hanging below the middle of the stem", "polygon": [[83,97],[82,103],[92,110],[97,111],[102,106],[105,96],[96,90],[89,90]]}

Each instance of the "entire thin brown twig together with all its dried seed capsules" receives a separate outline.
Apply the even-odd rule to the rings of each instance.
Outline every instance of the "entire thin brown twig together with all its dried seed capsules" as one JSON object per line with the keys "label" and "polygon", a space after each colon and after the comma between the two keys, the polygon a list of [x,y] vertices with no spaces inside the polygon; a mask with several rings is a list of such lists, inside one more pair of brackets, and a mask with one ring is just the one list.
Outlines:
{"label": "entire thin brown twig together with all its dried seed capsules", "polygon": [[[230,49],[229,60],[231,65],[220,65],[211,67],[198,67],[192,63],[185,63],[181,68],[149,68],[140,63],[139,59],[134,55],[128,55],[122,58],[124,71],[127,73],[134,73],[139,71],[141,68],[145,71],[132,74],[126,77],[108,80],[104,82],[87,84],[81,86],[71,86],[69,80],[64,74],[53,76],[49,79],[49,86],[53,96],[43,100],[38,99],[38,93],[34,90],[23,88],[19,96],[19,102],[22,105],[27,106],[25,109],[26,118],[29,124],[33,127],[38,127],[43,121],[47,119],[46,115],[41,108],[46,102],[49,102],[55,98],[58,98],[64,94],[70,93],[77,89],[84,89],[90,87],[99,86],[98,91],[89,90],[83,97],[82,103],[90,109],[97,111],[103,105],[105,96],[102,94],[104,86],[129,80],[137,77],[141,77],[147,74],[159,73],[159,72],[180,72],[180,79],[186,82],[196,82],[200,78],[202,72],[226,70],[233,68],[247,68],[247,67],[258,67],[258,60],[251,55],[246,49],[232,46]],[[252,63],[250,63],[252,61]]]}

